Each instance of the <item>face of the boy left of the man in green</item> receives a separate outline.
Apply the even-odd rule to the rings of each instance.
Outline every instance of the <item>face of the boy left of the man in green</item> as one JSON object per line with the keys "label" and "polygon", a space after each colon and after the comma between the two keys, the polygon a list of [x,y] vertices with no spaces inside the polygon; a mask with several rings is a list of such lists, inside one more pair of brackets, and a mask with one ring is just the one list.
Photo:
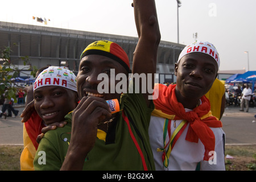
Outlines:
{"label": "face of the boy left of the man in green", "polygon": [[43,86],[34,91],[35,109],[46,125],[64,121],[75,109],[77,93],[62,86]]}

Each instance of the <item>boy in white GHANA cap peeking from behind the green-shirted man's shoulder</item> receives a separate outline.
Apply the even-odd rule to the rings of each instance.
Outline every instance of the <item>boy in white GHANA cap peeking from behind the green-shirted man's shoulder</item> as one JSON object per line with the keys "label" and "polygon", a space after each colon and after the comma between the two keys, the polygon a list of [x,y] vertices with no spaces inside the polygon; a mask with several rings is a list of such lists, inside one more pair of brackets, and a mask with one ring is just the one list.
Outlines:
{"label": "boy in white GHANA cap peeking from behind the green-shirted man's shoulder", "polygon": [[[24,150],[20,156],[20,168],[33,170],[33,161],[38,143],[36,138],[42,128],[65,121],[65,115],[75,109],[79,101],[76,76],[66,67],[48,67],[36,78],[34,86],[36,112],[24,123]],[[34,111],[34,109],[30,109]],[[56,127],[56,126],[55,126]]]}

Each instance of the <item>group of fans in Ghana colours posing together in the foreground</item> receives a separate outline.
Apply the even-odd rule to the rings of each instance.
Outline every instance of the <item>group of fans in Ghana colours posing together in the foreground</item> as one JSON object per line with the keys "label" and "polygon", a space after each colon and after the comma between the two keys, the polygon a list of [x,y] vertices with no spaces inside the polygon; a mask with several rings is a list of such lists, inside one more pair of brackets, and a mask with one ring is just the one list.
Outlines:
{"label": "group of fans in Ghana colours posing together in the foreground", "polygon": [[[225,170],[217,49],[209,42],[189,44],[175,64],[176,84],[155,84],[155,1],[132,6],[139,38],[132,68],[117,43],[98,40],[81,53],[77,76],[58,66],[38,71],[20,115],[22,170]],[[126,93],[98,91],[98,76],[110,79],[113,69],[127,77]],[[145,83],[129,73],[145,74],[154,92],[142,92]],[[112,84],[105,86],[111,90]],[[114,88],[119,84],[115,80]],[[119,109],[112,113],[106,100],[114,99]]]}

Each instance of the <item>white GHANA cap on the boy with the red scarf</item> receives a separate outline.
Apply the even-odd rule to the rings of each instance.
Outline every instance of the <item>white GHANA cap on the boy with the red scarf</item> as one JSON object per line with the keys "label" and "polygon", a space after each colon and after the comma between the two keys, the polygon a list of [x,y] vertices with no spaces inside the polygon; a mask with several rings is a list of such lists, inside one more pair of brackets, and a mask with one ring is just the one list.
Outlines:
{"label": "white GHANA cap on the boy with the red scarf", "polygon": [[218,55],[217,49],[213,46],[212,43],[209,42],[201,42],[196,41],[188,46],[186,46],[180,53],[179,59],[177,63],[179,63],[180,59],[192,52],[201,52],[206,53],[213,57],[213,59],[217,62],[218,68],[220,68],[220,56]]}

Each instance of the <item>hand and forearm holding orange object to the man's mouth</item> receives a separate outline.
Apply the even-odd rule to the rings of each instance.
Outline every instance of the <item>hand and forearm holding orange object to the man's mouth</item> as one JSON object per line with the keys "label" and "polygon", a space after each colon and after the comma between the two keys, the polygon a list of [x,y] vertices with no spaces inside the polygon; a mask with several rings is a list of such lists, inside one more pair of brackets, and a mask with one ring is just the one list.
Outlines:
{"label": "hand and forearm holding orange object to the man's mouth", "polygon": [[61,170],[82,169],[86,155],[95,144],[98,123],[111,116],[109,105],[104,99],[82,98],[72,114],[71,140]]}

